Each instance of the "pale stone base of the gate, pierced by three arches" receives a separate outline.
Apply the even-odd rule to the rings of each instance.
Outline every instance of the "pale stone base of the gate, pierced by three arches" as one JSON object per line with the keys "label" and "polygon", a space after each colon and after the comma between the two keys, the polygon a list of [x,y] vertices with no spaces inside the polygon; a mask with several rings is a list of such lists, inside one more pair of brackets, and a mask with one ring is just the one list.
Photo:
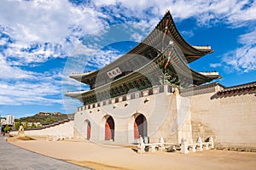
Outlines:
{"label": "pale stone base of the gate, pierced by three arches", "polygon": [[[145,99],[148,101],[144,102]],[[188,128],[191,129],[190,102],[189,104],[188,102],[188,99],[177,94],[162,93],[93,109],[79,110],[76,112],[74,119],[75,136],[80,139],[86,139],[84,122],[88,120],[91,125],[90,140],[103,141],[105,139],[105,117],[112,116],[115,123],[114,142],[133,143],[135,118],[139,114],[143,114],[148,122],[150,142],[158,142],[160,137],[163,136],[168,142],[177,143],[177,128],[183,129],[183,132],[179,133],[179,140],[181,138],[191,139],[191,133],[187,132]],[[125,104],[128,105],[125,106]],[[179,116],[177,116],[177,112]],[[188,121],[186,121],[188,118],[189,125],[187,125]],[[177,121],[179,121],[178,127]],[[183,127],[183,124],[186,124],[186,127]]]}

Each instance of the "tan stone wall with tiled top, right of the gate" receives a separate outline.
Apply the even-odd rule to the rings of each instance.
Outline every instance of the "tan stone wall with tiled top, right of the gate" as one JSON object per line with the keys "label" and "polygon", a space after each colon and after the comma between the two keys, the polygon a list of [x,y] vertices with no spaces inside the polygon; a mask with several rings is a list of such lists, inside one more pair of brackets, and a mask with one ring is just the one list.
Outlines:
{"label": "tan stone wall with tiled top, right of the gate", "polygon": [[255,92],[223,96],[215,92],[191,98],[193,139],[213,136],[217,147],[256,148]]}

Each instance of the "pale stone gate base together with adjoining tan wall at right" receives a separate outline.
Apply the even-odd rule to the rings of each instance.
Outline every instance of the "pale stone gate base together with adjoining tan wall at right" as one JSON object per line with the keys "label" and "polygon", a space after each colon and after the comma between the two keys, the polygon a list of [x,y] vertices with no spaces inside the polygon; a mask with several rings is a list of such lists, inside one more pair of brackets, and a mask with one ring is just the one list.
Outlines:
{"label": "pale stone gate base together with adjoining tan wall at right", "polygon": [[112,104],[100,103],[94,108],[83,106],[75,114],[73,137],[86,139],[90,122],[90,140],[106,142],[105,123],[112,116],[114,142],[131,144],[135,141],[134,122],[143,114],[150,143],[159,142],[161,136],[176,144],[182,138],[195,143],[198,137],[205,140],[212,136],[217,147],[256,148],[255,92],[217,95],[223,89],[212,83],[179,95],[165,88],[160,94],[143,91],[137,99],[112,99]]}

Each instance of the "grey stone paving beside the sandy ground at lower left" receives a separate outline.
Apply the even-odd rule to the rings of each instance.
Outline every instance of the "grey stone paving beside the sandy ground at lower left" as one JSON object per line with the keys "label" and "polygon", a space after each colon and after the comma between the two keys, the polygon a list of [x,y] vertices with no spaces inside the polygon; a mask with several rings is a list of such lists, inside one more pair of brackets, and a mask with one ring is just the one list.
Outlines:
{"label": "grey stone paving beside the sandy ground at lower left", "polygon": [[0,137],[0,169],[1,170],[86,170],[89,168],[80,167],[66,161],[57,160],[43,156],[29,150],[24,150],[6,142],[3,136]]}

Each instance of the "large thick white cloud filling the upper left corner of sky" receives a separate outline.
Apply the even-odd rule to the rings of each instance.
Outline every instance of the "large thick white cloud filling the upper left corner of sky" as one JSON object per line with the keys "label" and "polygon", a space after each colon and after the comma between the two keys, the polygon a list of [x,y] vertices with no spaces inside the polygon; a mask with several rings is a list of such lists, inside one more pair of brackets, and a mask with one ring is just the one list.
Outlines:
{"label": "large thick white cloud filling the upper left corner of sky", "polygon": [[15,40],[7,43],[2,38],[0,43],[8,45],[3,53],[17,58],[20,65],[65,57],[80,37],[105,25],[99,19],[104,14],[67,0],[3,1],[0,15],[2,30]]}

